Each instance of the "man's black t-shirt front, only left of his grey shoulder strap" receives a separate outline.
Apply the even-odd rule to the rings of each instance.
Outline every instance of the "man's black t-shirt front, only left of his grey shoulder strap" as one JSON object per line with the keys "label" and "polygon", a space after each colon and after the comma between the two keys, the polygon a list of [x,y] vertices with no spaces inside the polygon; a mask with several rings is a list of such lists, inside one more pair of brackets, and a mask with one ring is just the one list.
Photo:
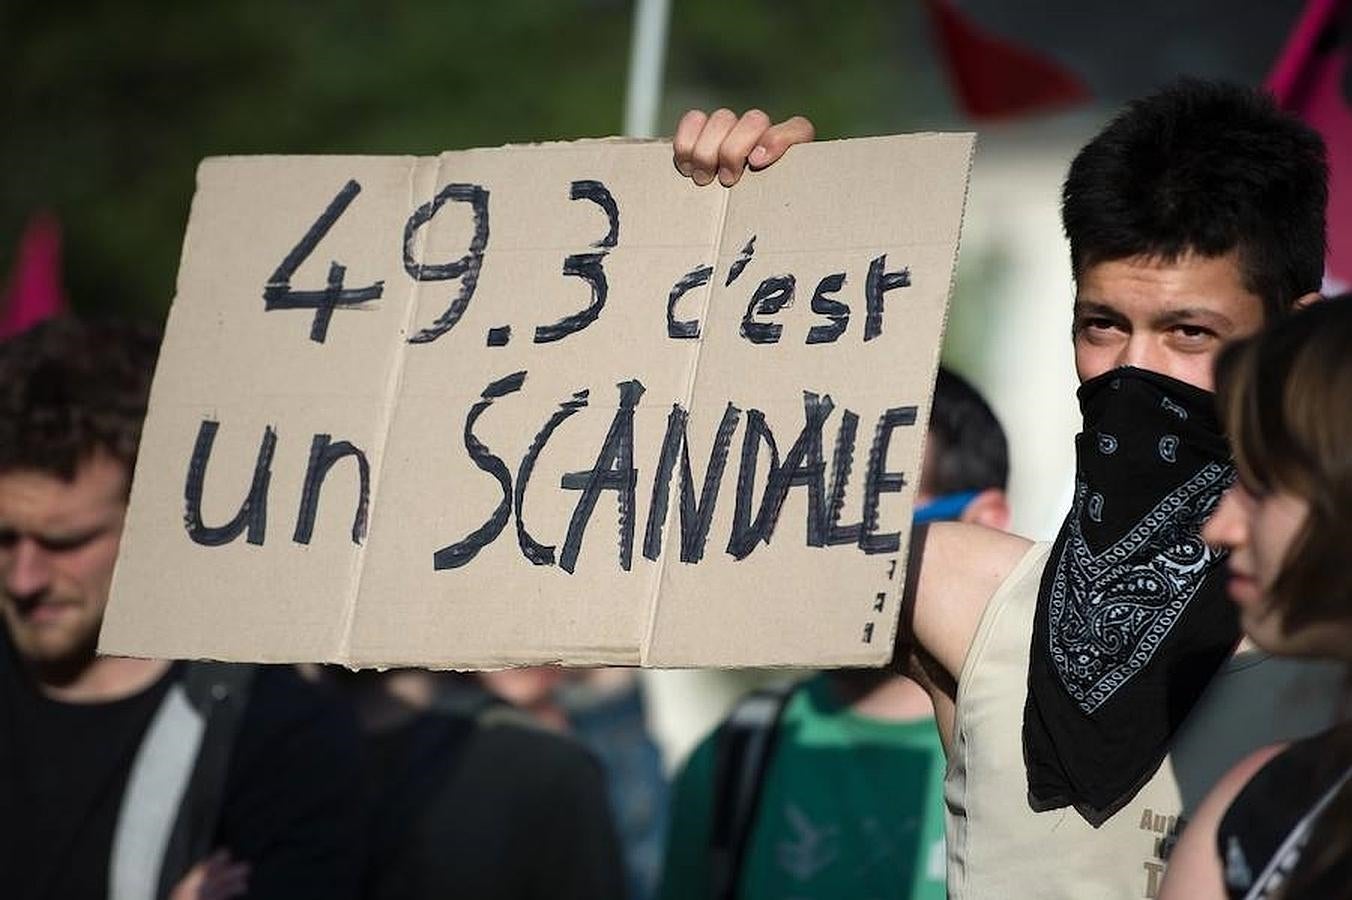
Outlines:
{"label": "man's black t-shirt front, only left of his grey shoulder strap", "polygon": [[131,761],[173,678],[170,670],[112,703],[59,703],[42,696],[0,646],[4,896],[107,896],[108,850]]}

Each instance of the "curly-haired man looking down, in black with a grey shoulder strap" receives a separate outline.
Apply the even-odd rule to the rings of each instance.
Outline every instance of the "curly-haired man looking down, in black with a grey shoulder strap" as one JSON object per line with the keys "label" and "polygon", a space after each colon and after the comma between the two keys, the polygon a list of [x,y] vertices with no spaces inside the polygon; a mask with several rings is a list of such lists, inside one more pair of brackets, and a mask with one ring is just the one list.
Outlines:
{"label": "curly-haired man looking down, in black with a grey shoulder strap", "polygon": [[287,668],[95,654],[158,345],[72,318],[0,343],[0,893],[354,897],[341,705]]}

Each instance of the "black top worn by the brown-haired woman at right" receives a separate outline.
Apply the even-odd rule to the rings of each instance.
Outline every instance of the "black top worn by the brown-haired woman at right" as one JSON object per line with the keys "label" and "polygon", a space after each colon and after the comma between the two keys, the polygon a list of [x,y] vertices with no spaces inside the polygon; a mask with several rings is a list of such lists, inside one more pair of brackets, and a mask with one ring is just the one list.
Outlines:
{"label": "black top worn by the brown-haired woman at right", "polygon": [[[1226,893],[1236,900],[1282,896],[1338,897],[1352,885],[1352,858],[1321,873],[1298,895],[1279,893],[1301,868],[1302,850],[1318,828],[1321,808],[1352,766],[1338,753],[1347,746],[1347,728],[1293,743],[1257,770],[1225,811],[1217,828],[1217,850]],[[1345,781],[1343,791],[1349,791]],[[1299,885],[1298,885],[1299,886]]]}

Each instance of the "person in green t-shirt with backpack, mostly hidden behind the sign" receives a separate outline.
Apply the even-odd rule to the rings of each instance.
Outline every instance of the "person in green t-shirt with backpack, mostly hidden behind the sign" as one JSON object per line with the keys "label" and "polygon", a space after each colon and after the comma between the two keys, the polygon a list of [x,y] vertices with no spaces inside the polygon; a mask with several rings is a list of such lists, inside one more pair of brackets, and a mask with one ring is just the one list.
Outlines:
{"label": "person in green t-shirt with backpack, mostly hidden behind the sign", "polygon": [[[1003,528],[1007,478],[995,414],[940,369],[915,520]],[[944,900],[942,791],[934,712],[915,681],[842,669],[752,695],[676,780],[661,897]],[[740,796],[753,808],[738,809]]]}

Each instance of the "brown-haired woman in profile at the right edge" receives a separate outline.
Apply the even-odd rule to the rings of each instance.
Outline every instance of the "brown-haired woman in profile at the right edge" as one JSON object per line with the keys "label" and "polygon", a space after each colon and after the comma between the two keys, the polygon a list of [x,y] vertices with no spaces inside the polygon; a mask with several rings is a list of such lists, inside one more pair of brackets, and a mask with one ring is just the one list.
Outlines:
{"label": "brown-haired woman in profile at the right edge", "polygon": [[[1347,295],[1226,350],[1217,381],[1240,480],[1202,534],[1230,550],[1253,643],[1352,674],[1349,350]],[[1234,766],[1183,832],[1160,897],[1352,897],[1352,719]]]}

